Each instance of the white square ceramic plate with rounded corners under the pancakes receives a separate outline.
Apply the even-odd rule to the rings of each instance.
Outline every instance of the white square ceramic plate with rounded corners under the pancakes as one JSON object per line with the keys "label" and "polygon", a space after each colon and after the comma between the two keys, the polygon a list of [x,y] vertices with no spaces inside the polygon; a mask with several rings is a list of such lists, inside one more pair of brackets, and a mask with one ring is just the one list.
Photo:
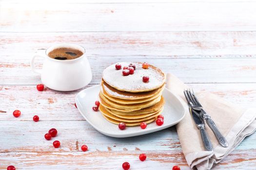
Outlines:
{"label": "white square ceramic plate with rounded corners under the pancakes", "polygon": [[100,111],[95,112],[92,110],[95,101],[98,100],[99,90],[99,85],[83,89],[76,96],[76,104],[84,119],[86,119],[98,132],[107,136],[130,137],[156,132],[177,124],[185,116],[185,110],[181,102],[173,93],[165,88],[162,94],[165,100],[164,109],[161,113],[164,116],[163,125],[158,126],[156,122],[152,122],[147,125],[146,129],[141,129],[140,126],[134,126],[126,127],[125,130],[120,130],[118,125],[107,121],[101,115]]}

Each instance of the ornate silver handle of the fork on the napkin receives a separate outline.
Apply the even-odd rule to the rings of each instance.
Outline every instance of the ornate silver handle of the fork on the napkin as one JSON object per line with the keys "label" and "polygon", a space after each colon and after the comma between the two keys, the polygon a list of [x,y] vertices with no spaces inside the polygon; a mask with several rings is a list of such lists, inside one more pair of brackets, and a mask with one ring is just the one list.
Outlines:
{"label": "ornate silver handle of the fork on the napkin", "polygon": [[206,123],[208,124],[208,126],[212,129],[214,135],[216,136],[218,143],[227,148],[228,147],[228,142],[226,140],[226,138],[224,136],[221,135],[221,133],[219,132],[215,122],[213,121],[213,119],[211,119],[211,117],[202,109],[201,110],[204,116],[204,119],[206,120]]}

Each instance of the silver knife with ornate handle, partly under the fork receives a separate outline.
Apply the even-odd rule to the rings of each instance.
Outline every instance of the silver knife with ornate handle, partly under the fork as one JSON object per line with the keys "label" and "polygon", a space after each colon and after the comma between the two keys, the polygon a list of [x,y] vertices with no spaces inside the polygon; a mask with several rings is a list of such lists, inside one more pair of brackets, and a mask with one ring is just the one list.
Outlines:
{"label": "silver knife with ornate handle, partly under the fork", "polygon": [[190,110],[192,118],[194,119],[194,121],[195,121],[195,123],[197,125],[197,128],[200,130],[200,134],[201,134],[201,137],[202,137],[202,140],[203,140],[204,148],[207,151],[213,151],[213,146],[212,146],[212,143],[210,141],[209,136],[207,135],[207,133],[205,131],[204,120],[201,117],[200,112],[197,113],[197,111],[194,110],[190,106],[189,106],[189,110]]}

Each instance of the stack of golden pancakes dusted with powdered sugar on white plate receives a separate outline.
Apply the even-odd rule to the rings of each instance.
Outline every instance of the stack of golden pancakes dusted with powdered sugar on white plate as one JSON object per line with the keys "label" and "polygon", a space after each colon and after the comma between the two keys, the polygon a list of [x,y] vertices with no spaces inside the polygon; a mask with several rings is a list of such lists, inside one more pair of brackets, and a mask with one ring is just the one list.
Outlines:
{"label": "stack of golden pancakes dusted with powdered sugar on white plate", "polygon": [[[122,68],[130,63],[122,62]],[[163,110],[164,99],[161,96],[165,84],[164,73],[149,65],[142,68],[142,63],[134,63],[134,74],[123,76],[122,70],[111,65],[103,71],[99,92],[99,110],[108,121],[126,126],[150,123],[157,119]],[[149,82],[142,81],[149,76]]]}

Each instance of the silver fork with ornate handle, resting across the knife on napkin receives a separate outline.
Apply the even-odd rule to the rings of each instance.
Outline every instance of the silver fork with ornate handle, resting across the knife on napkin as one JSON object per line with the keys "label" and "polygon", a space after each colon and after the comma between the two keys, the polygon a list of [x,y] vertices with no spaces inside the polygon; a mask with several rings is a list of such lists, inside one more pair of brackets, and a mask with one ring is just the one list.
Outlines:
{"label": "silver fork with ornate handle, resting across the knife on napkin", "polygon": [[200,104],[200,102],[197,100],[197,97],[192,90],[187,89],[185,90],[188,94],[188,98],[189,98],[189,104],[191,105],[191,107],[193,107],[193,109],[201,111],[202,113],[202,117],[205,119],[206,123],[208,124],[208,126],[211,128],[211,130],[213,131],[214,135],[217,138],[218,143],[223,146],[223,147],[228,147],[228,142],[226,140],[226,138],[224,136],[221,135],[221,133],[219,132],[215,122],[213,121],[213,119],[211,119],[210,115],[208,115],[204,110],[202,105]]}

